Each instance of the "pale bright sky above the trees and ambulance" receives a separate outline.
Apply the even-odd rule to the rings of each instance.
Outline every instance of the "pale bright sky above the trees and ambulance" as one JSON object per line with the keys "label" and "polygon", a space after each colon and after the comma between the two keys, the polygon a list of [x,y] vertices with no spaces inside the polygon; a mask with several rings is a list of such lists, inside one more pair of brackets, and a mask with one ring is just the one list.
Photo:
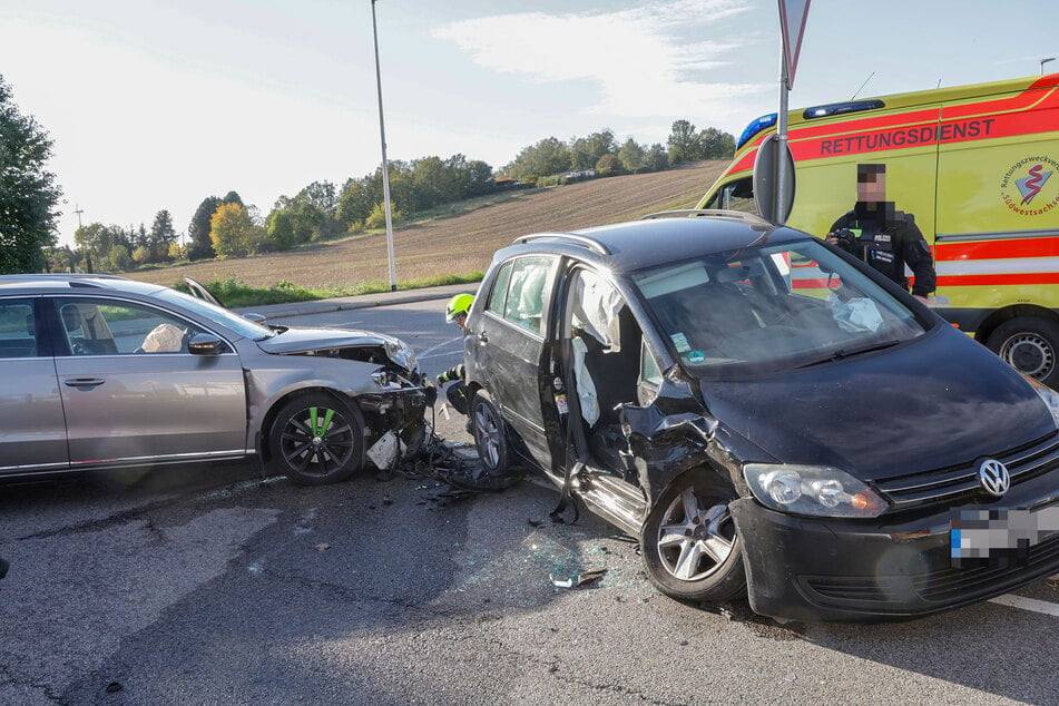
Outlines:
{"label": "pale bright sky above the trees and ambulance", "polygon": [[[682,119],[737,137],[778,106],[777,0],[374,9],[391,160],[499,169],[548,137],[665,145]],[[1059,71],[1056,27],[1056,0],[812,0],[790,106]],[[265,216],[382,163],[371,0],[3,0],[0,76],[55,143],[61,244],[161,209],[185,233],[231,190]]]}

